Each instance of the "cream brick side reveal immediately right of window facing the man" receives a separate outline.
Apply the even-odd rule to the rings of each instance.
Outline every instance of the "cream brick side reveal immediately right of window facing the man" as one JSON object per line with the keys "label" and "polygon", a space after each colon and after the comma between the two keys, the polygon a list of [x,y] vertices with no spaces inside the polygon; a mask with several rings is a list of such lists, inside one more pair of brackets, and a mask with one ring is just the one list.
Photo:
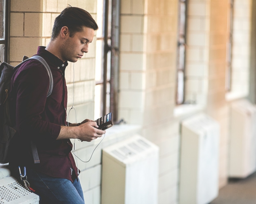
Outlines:
{"label": "cream brick side reveal immediately right of window facing the man", "polygon": [[144,0],[121,0],[119,118],[143,122],[145,89]]}

